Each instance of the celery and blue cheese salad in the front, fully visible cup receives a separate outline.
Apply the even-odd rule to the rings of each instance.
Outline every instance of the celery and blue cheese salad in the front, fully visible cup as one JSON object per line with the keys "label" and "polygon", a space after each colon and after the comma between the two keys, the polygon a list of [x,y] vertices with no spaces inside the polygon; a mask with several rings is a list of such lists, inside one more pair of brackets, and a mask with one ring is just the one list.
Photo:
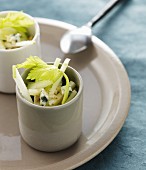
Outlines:
{"label": "celery and blue cheese salad in the front, fully visible cup", "polygon": [[[13,79],[26,100],[40,106],[57,106],[76,96],[77,86],[65,73],[70,59],[66,58],[61,67],[60,61],[56,58],[53,65],[48,65],[39,57],[30,56],[24,63],[13,65]],[[20,68],[29,69],[24,81]]]}

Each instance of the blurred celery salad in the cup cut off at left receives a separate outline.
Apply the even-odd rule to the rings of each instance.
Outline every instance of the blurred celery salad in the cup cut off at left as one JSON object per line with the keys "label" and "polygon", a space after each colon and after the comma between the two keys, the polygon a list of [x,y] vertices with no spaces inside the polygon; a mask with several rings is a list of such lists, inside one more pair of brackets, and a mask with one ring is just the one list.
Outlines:
{"label": "blurred celery salad in the cup cut off at left", "polygon": [[32,43],[28,28],[34,21],[23,12],[9,12],[0,17],[0,49],[14,49]]}

